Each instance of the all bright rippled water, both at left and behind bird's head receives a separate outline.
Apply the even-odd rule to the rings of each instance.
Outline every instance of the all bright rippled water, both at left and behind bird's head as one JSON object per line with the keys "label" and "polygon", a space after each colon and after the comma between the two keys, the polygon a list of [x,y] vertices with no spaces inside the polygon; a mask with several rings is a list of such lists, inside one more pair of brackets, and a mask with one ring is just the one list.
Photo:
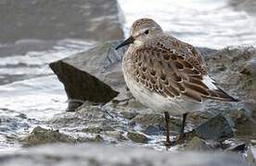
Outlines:
{"label": "all bright rippled water, both at left and behind bird's head", "polygon": [[[222,0],[119,0],[126,35],[136,18],[156,19],[175,37],[196,46],[223,48],[256,43],[256,21]],[[246,26],[245,26],[246,25]],[[17,148],[18,136],[62,113],[67,97],[50,62],[90,48],[94,41],[0,43],[0,149]]]}

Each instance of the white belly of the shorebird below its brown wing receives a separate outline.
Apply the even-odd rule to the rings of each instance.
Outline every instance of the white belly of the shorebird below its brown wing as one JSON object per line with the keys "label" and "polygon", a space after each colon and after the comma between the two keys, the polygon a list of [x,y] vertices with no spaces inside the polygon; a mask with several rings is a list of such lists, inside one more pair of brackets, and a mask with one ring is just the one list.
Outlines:
{"label": "white belly of the shorebird below its brown wing", "polygon": [[183,113],[202,111],[201,103],[186,101],[181,98],[165,98],[156,92],[149,91],[136,82],[133,77],[127,76],[126,72],[123,72],[123,76],[134,98],[154,112],[169,112],[172,115],[180,115]]}

